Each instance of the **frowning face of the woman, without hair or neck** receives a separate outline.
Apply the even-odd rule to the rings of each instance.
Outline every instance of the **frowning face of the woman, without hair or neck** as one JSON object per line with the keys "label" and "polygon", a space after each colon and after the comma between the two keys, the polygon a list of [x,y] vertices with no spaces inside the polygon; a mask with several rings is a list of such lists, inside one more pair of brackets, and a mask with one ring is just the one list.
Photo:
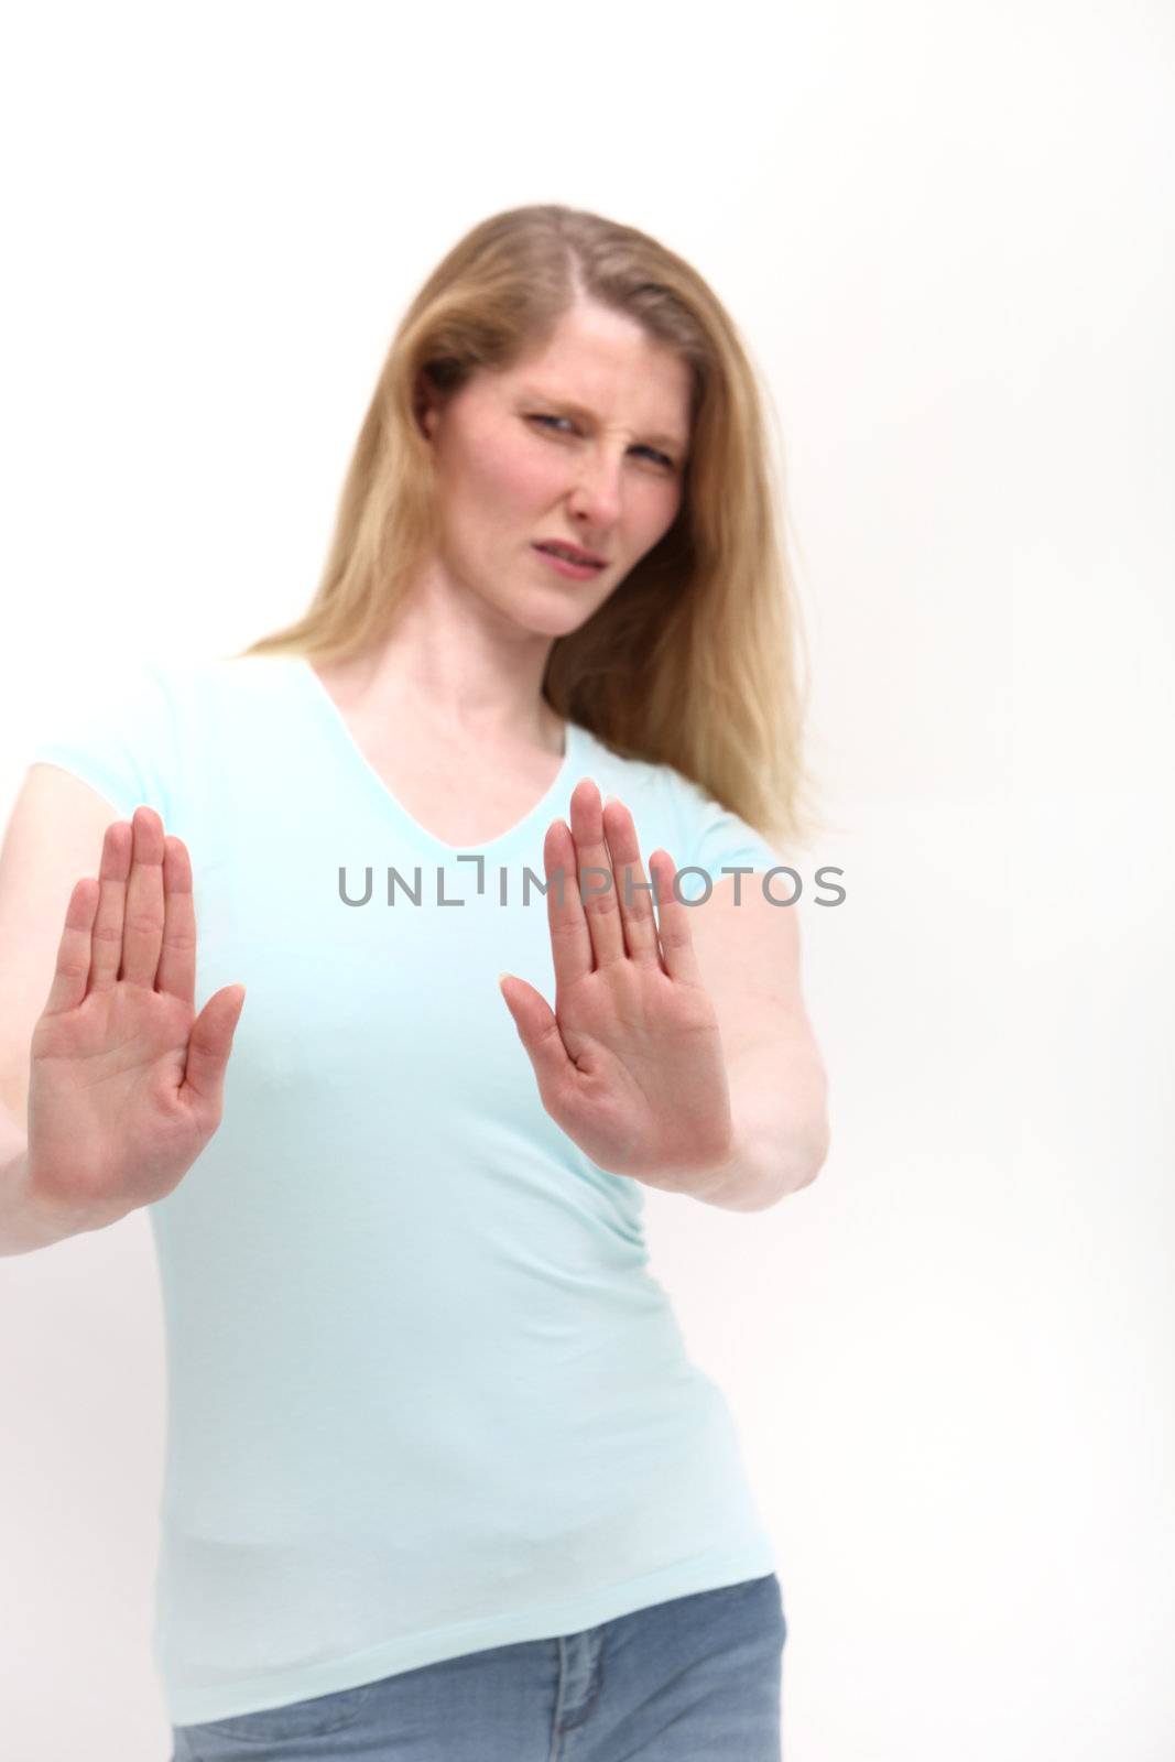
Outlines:
{"label": "frowning face of the woman, without hair or neck", "polygon": [[[578,629],[668,532],[689,451],[687,365],[620,312],[583,301],[506,372],[446,400],[421,388],[446,573],[527,629]],[[574,578],[536,546],[602,559]]]}

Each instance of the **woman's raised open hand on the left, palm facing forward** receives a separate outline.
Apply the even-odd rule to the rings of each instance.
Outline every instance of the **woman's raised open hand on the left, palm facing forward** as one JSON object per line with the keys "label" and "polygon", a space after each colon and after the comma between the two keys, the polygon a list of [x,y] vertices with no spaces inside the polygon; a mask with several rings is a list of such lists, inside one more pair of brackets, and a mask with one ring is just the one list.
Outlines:
{"label": "woman's raised open hand on the left, palm facing forward", "polygon": [[81,1228],[166,1198],[217,1126],[245,1001],[196,1015],[192,863],[151,807],[106,828],[99,879],[78,881],[33,1027],[28,1191]]}

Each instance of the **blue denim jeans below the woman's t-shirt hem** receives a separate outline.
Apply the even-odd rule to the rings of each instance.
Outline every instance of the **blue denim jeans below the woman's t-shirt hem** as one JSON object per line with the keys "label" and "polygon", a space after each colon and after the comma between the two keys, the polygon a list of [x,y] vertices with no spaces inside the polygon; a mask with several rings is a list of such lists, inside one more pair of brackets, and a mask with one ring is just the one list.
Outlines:
{"label": "blue denim jeans below the woman's t-shirt hem", "polygon": [[203,1725],[171,1762],[780,1762],[779,1579]]}

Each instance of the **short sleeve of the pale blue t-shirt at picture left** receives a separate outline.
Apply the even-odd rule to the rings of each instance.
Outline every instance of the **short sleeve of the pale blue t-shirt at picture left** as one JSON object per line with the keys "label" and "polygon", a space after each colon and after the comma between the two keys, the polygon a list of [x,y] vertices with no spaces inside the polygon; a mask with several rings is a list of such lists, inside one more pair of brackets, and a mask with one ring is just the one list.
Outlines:
{"label": "short sleeve of the pale blue t-shirt at picture left", "polygon": [[153,666],[70,687],[42,712],[30,765],[58,765],[106,796],[122,819],[153,807],[176,818],[176,705],[171,677]]}

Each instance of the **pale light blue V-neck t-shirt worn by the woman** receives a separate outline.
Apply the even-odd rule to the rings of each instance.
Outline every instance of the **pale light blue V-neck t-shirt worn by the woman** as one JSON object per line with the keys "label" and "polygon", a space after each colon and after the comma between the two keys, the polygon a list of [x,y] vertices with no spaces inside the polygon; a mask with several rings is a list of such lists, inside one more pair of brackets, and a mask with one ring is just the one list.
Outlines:
{"label": "pale light blue V-neck t-shirt worn by the woman", "polygon": [[497,976],[553,1004],[534,883],[581,777],[632,811],[645,867],[784,858],[574,722],[532,811],[458,851],[303,657],[134,668],[67,721],[32,761],[188,848],[196,1008],[247,987],[222,1124],[148,1207],[171,1721],[773,1572],[733,1417],[648,1270],[645,1189],[550,1119]]}

